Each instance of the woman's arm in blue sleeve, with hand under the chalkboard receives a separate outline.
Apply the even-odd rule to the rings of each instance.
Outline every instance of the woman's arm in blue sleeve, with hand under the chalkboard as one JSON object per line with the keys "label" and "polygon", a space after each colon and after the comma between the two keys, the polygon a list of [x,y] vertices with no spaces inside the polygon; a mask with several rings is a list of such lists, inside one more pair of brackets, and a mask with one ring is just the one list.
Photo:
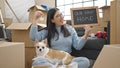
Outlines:
{"label": "woman's arm in blue sleeve, with hand under the chalkboard", "polygon": [[76,31],[74,28],[72,28],[72,41],[73,41],[73,47],[77,50],[80,50],[84,47],[87,38],[88,38],[88,34],[91,30],[91,28],[89,26],[85,26],[85,34],[82,37],[78,37]]}

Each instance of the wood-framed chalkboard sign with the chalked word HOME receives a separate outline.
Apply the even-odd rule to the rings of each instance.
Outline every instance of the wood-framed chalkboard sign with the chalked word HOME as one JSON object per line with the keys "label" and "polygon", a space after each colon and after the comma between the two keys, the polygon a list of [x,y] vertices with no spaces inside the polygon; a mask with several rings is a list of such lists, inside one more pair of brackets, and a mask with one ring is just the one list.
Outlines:
{"label": "wood-framed chalkboard sign with the chalked word HOME", "polygon": [[71,8],[71,19],[73,27],[99,25],[98,7]]}

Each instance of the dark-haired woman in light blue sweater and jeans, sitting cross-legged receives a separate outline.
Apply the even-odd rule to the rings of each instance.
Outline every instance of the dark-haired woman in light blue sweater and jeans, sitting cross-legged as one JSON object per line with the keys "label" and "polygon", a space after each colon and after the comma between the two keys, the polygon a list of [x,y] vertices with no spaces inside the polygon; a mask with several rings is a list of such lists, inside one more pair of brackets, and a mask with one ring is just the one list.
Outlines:
{"label": "dark-haired woman in light blue sweater and jeans, sitting cross-legged", "polygon": [[[87,41],[88,34],[91,30],[89,26],[85,26],[85,34],[83,37],[78,37],[75,29],[64,23],[64,16],[58,8],[51,8],[47,13],[47,27],[38,31],[36,20],[42,15],[41,11],[37,11],[34,15],[34,22],[30,29],[30,38],[32,41],[38,39],[42,41],[47,38],[48,46],[53,49],[63,50],[71,53],[72,47],[80,50],[84,47]],[[76,57],[72,62],[78,63],[78,68],[88,68],[90,65],[86,57]],[[50,65],[45,59],[35,60],[33,65]]]}

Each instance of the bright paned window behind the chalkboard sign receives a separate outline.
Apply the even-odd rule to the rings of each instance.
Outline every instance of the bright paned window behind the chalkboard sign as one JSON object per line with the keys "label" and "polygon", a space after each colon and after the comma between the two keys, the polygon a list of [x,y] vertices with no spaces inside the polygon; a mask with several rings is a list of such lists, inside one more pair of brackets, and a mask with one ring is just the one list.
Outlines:
{"label": "bright paned window behind the chalkboard sign", "polygon": [[[71,19],[70,8],[88,6],[110,6],[111,0],[56,0],[56,7],[64,13],[65,20]],[[102,10],[99,9],[99,16],[102,17]]]}

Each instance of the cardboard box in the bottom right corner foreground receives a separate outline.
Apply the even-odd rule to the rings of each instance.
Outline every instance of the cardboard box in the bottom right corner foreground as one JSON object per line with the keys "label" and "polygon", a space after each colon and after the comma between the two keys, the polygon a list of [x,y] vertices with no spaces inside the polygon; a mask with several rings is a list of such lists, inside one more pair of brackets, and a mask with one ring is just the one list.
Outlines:
{"label": "cardboard box in the bottom right corner foreground", "polygon": [[120,68],[120,44],[105,45],[93,68]]}

